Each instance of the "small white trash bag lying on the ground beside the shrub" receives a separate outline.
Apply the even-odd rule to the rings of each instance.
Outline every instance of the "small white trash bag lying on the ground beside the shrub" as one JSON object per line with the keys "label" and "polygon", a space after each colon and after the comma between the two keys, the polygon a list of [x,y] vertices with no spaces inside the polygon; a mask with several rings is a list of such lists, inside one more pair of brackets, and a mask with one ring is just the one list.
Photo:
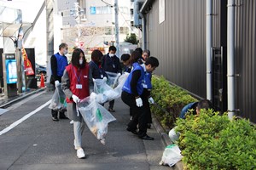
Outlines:
{"label": "small white trash bag lying on the ground beside the shrub", "polygon": [[166,149],[164,150],[162,160],[160,161],[160,165],[168,165],[169,167],[172,167],[177,163],[177,161],[180,161],[182,159],[182,155],[180,154],[181,150],[179,150],[177,144],[170,144],[166,146]]}

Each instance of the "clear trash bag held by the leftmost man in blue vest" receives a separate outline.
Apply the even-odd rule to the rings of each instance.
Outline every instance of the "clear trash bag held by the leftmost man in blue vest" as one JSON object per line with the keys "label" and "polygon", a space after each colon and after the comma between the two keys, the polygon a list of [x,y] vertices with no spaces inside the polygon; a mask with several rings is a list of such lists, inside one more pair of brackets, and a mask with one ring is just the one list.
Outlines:
{"label": "clear trash bag held by the leftmost man in blue vest", "polygon": [[59,83],[55,88],[55,93],[51,98],[49,109],[52,109],[54,111],[62,111],[62,112],[67,111],[66,95],[61,89],[61,83]]}

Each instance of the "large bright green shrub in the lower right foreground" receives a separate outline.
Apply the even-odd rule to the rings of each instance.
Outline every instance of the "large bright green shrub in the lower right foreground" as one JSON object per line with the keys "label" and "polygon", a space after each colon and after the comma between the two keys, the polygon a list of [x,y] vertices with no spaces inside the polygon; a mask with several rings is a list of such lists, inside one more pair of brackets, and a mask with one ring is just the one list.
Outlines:
{"label": "large bright green shrub in the lower right foreground", "polygon": [[176,130],[186,169],[256,168],[256,129],[245,119],[201,110],[178,119]]}

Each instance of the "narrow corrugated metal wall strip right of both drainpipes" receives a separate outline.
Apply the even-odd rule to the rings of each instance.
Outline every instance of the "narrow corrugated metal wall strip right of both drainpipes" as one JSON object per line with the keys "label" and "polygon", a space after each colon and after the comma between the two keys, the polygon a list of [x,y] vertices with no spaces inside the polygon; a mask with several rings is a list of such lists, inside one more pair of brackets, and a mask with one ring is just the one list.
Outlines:
{"label": "narrow corrugated metal wall strip right of both drainpipes", "polygon": [[241,116],[256,122],[256,2],[236,3],[236,106]]}

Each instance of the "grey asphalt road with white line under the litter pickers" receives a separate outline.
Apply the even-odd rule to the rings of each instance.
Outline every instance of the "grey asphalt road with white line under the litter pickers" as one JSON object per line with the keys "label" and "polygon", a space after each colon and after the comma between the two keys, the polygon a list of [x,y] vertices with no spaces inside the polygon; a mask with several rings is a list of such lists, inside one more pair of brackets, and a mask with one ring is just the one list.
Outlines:
{"label": "grey asphalt road with white line under the litter pickers", "polygon": [[[129,109],[115,101],[113,116],[103,145],[85,127],[85,159],[73,149],[73,125],[69,120],[53,122],[48,108],[52,92],[41,92],[9,106],[0,116],[0,170],[94,169],[94,170],[166,170],[160,166],[165,145],[154,127],[148,135],[154,141],[138,139],[125,130]],[[108,107],[108,104],[105,104]]]}

